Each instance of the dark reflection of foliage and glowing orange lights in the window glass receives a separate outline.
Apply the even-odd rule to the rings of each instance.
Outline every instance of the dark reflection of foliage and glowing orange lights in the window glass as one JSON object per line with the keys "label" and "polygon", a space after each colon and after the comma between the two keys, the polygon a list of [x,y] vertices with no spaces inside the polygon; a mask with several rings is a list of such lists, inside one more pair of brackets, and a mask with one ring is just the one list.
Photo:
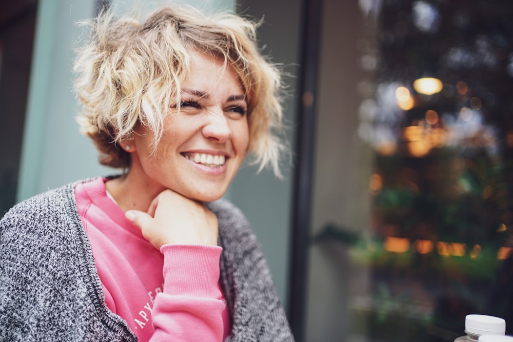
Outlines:
{"label": "dark reflection of foliage and glowing orange lights in the window glass", "polygon": [[353,242],[372,293],[354,329],[452,341],[486,313],[513,335],[513,3],[360,5],[378,45],[361,61],[377,82],[360,85],[359,135],[376,160],[373,236]]}

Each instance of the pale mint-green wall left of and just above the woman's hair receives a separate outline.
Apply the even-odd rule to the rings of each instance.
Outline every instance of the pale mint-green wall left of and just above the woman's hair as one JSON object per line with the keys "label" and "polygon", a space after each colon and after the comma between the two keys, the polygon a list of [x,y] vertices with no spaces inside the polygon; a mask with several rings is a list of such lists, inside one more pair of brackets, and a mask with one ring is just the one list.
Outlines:
{"label": "pale mint-green wall left of and just above the woman's hair", "polygon": [[[114,1],[129,10],[141,0]],[[185,2],[185,1],[184,1]],[[163,0],[144,1],[149,10]],[[213,11],[234,7],[232,0],[188,0]],[[40,0],[17,199],[25,199],[78,178],[112,173],[97,163],[90,140],[78,133],[71,90],[73,46],[82,29],[76,22],[94,15],[93,0]]]}

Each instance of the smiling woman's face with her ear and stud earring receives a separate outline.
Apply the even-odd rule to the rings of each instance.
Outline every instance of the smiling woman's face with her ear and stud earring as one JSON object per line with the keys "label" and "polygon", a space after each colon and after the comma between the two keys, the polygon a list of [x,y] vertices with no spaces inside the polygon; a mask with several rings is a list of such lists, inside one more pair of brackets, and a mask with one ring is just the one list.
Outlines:
{"label": "smiling woman's face with her ear and stud earring", "polygon": [[153,193],[171,189],[202,202],[223,196],[248,149],[245,95],[232,68],[192,53],[180,111],[171,108],[155,154],[153,133],[135,130],[130,173]]}

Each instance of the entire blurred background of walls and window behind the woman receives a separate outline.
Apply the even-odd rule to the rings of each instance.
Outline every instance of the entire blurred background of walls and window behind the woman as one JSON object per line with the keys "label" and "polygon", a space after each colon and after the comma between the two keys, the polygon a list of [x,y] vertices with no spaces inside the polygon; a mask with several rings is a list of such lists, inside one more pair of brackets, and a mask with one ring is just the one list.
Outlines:
{"label": "entire blurred background of walls and window behind the woman", "polygon": [[[469,313],[513,334],[513,3],[210,0],[264,18],[283,66],[284,180],[226,197],[258,235],[298,341],[453,341]],[[0,3],[0,215],[109,175],[78,133],[75,23],[165,1]]]}

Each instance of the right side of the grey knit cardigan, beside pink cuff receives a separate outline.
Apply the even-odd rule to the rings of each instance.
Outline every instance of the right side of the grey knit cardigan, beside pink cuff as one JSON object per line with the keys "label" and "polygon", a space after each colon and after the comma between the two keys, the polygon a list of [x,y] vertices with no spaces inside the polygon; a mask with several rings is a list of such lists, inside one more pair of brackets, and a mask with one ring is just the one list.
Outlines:
{"label": "right side of the grey knit cardigan, beside pink cuff", "polygon": [[208,204],[219,220],[221,284],[232,316],[231,341],[293,341],[257,237],[233,204]]}

